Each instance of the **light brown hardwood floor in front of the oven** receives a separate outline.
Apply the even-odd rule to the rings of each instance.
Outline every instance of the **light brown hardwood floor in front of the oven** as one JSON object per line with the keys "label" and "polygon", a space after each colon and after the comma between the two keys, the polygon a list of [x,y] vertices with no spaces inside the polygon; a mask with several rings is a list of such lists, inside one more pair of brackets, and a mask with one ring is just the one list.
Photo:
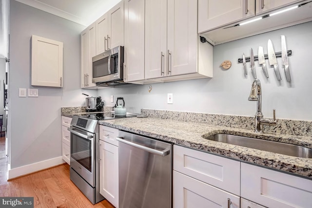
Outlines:
{"label": "light brown hardwood floor in front of the oven", "polygon": [[34,197],[35,208],[114,208],[107,200],[91,204],[70,180],[66,163],[10,181],[1,177],[0,196]]}

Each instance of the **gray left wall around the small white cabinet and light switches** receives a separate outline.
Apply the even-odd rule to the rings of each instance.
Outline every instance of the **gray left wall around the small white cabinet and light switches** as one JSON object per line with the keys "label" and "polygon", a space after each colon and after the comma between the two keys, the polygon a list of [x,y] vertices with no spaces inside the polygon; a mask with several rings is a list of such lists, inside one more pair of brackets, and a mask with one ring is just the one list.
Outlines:
{"label": "gray left wall around the small white cabinet and light switches", "polygon": [[[60,107],[84,104],[79,81],[83,29],[82,25],[11,0],[11,168],[61,156]],[[63,88],[31,86],[32,35],[63,42]],[[39,97],[19,97],[19,88],[39,89]]]}

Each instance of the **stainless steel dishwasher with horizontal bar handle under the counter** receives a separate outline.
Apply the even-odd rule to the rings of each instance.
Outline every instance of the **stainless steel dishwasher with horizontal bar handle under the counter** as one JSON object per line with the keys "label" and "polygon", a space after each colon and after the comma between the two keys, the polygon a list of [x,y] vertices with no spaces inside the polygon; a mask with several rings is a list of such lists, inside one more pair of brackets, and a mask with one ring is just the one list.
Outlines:
{"label": "stainless steel dishwasher with horizontal bar handle under the counter", "polygon": [[172,143],[119,132],[119,208],[172,207]]}

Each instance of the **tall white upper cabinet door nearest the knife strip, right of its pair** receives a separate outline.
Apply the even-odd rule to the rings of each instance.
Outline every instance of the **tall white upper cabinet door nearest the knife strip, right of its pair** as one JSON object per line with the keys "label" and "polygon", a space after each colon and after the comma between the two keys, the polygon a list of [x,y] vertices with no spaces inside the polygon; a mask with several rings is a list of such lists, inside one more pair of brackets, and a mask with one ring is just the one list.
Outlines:
{"label": "tall white upper cabinet door nearest the knife strip, right of its pair", "polygon": [[197,1],[168,0],[168,76],[197,72]]}

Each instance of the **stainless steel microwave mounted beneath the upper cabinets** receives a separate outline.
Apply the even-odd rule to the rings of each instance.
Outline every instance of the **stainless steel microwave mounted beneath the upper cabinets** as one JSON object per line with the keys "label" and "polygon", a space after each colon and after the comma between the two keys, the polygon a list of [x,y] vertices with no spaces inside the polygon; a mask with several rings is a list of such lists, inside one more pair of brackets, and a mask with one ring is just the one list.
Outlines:
{"label": "stainless steel microwave mounted beneath the upper cabinets", "polygon": [[123,80],[123,57],[123,46],[92,57],[92,82],[109,83]]}

